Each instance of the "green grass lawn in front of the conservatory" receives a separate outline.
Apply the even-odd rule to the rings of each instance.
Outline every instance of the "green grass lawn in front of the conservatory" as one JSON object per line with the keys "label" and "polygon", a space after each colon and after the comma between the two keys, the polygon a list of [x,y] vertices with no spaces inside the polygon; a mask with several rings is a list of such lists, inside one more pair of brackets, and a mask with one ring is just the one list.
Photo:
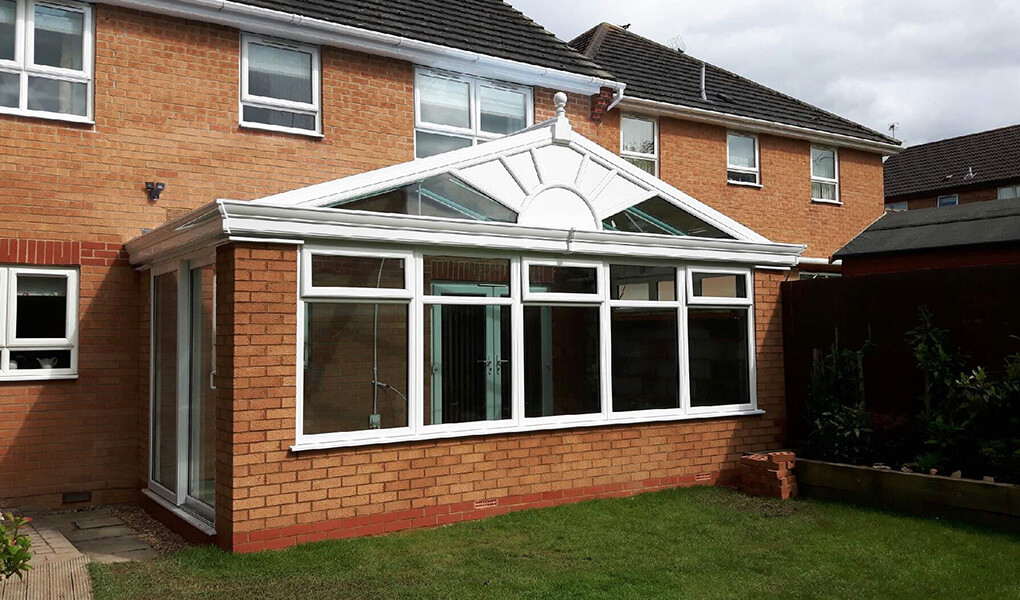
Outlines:
{"label": "green grass lawn in front of the conservatory", "polygon": [[97,600],[1020,599],[1020,537],[695,488],[430,531],[92,565]]}

